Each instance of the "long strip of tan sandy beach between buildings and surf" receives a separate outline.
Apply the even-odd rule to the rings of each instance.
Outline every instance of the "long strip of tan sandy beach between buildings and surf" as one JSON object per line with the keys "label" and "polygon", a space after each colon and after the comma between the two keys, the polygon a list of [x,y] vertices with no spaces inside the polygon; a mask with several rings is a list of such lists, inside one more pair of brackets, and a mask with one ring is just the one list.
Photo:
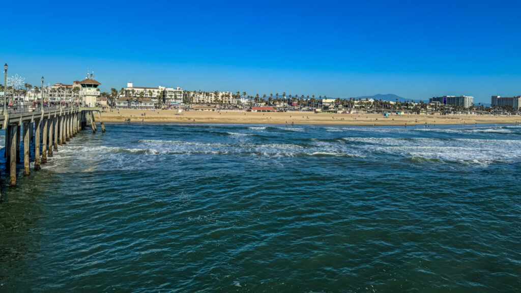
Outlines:
{"label": "long strip of tan sandy beach between buildings and surf", "polygon": [[[508,124],[521,121],[521,116],[487,115],[390,115],[380,114],[326,114],[312,112],[245,112],[245,111],[183,111],[113,109],[102,113],[110,123],[210,123],[210,124],[307,124],[307,125],[420,125],[420,124]],[[142,115],[145,114],[145,115]]]}

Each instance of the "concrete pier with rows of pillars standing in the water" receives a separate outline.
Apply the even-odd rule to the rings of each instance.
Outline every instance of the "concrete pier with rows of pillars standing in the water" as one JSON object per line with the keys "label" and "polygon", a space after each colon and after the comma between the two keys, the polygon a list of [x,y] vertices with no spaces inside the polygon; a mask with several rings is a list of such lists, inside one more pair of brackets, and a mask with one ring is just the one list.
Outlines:
{"label": "concrete pier with rows of pillars standing in the water", "polygon": [[[1,109],[0,109],[1,110]],[[0,115],[0,127],[5,129],[6,172],[9,186],[16,187],[17,164],[23,162],[23,176],[31,174],[30,162],[34,161],[34,171],[47,163],[49,157],[58,151],[60,145],[90,126],[95,133],[94,116],[98,115],[102,132],[105,125],[101,120],[101,107],[54,106],[27,107],[19,111],[9,109]],[[3,112],[3,111],[2,111]],[[20,144],[23,143],[23,148]],[[23,154],[20,151],[23,150]],[[31,157],[31,150],[34,157]],[[0,193],[0,200],[2,194]]]}

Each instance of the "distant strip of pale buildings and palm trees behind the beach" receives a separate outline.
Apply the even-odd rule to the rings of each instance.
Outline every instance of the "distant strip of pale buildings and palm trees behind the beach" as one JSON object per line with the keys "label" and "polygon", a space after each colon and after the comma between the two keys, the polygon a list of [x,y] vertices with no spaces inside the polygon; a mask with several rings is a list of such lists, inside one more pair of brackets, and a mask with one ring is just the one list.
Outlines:
{"label": "distant strip of pale buildings and palm trees behind the beach", "polygon": [[[94,74],[87,72],[81,81],[75,80],[69,84],[55,83],[52,86],[32,86],[24,84],[23,89],[8,87],[8,106],[18,106],[26,103],[57,104],[72,103],[87,106],[103,106],[116,108],[193,108],[211,110],[216,108],[248,108],[271,107],[272,111],[323,111],[330,113],[355,113],[358,111],[402,111],[406,113],[454,113],[454,112],[488,112],[488,113],[519,113],[521,110],[521,96],[502,97],[491,96],[490,106],[481,103],[474,104],[474,97],[460,95],[435,96],[429,102],[395,101],[373,99],[370,97],[331,99],[330,97],[315,95],[255,94],[231,91],[188,91],[180,87],[167,88],[134,86],[128,82],[126,87],[119,90],[112,88],[110,92],[101,92],[100,82],[95,80]],[[3,94],[4,87],[1,87]]]}

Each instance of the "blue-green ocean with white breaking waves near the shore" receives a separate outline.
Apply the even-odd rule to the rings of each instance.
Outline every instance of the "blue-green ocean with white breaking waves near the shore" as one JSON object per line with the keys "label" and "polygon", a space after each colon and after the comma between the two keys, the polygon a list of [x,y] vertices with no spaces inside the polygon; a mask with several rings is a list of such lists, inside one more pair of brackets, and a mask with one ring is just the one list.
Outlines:
{"label": "blue-green ocean with white breaking waves near the shore", "polygon": [[1,292],[521,290],[519,126],[106,128],[2,168]]}

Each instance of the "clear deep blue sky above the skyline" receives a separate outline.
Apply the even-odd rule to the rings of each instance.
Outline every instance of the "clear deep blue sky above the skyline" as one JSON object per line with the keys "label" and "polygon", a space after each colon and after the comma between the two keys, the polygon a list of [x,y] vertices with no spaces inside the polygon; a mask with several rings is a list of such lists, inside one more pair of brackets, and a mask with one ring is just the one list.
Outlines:
{"label": "clear deep blue sky above the skyline", "polygon": [[[31,84],[351,97],[521,95],[520,1],[2,2],[0,62]],[[0,83],[3,83],[3,79]]]}

